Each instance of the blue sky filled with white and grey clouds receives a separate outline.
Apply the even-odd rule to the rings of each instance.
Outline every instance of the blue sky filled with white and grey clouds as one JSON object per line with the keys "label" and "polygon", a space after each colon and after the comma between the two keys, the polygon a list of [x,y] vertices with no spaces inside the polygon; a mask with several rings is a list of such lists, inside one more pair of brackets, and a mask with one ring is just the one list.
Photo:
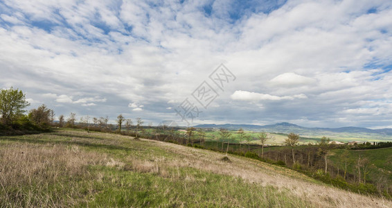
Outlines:
{"label": "blue sky filled with white and grey clouds", "polygon": [[0,88],[56,116],[392,128],[392,1],[0,0]]}

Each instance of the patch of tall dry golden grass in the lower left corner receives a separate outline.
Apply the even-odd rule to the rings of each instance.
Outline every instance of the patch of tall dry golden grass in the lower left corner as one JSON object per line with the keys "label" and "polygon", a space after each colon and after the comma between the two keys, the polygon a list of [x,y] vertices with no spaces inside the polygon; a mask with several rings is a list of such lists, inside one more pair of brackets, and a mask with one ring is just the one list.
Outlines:
{"label": "patch of tall dry golden grass in the lower left corner", "polygon": [[1,205],[6,207],[75,205],[74,199],[80,198],[80,193],[75,191],[80,185],[79,181],[96,179],[88,171],[87,166],[106,162],[105,155],[82,151],[78,146],[70,148],[49,144],[0,146]]}

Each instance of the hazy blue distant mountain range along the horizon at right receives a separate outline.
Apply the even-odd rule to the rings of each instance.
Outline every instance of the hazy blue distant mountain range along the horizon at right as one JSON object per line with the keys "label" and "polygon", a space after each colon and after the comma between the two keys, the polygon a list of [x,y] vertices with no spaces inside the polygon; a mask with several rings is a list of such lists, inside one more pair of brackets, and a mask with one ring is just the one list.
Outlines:
{"label": "hazy blue distant mountain range along the horizon at right", "polygon": [[326,135],[327,137],[334,137],[344,135],[344,133],[349,133],[345,137],[384,137],[392,138],[392,128],[384,129],[369,129],[369,128],[359,128],[359,127],[341,127],[341,128],[307,128],[301,125],[296,125],[294,123],[275,123],[272,125],[249,125],[249,124],[201,124],[195,125],[196,128],[226,128],[229,130],[238,130],[243,128],[244,130],[251,131],[265,131],[265,132],[277,132],[277,133],[289,133],[294,132],[296,134],[308,135],[308,136],[320,136]]}

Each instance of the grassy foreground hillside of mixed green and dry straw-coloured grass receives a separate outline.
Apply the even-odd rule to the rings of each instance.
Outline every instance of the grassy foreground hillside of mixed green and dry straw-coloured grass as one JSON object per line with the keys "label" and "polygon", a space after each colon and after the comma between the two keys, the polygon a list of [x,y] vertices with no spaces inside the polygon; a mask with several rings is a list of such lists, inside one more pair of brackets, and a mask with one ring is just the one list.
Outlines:
{"label": "grassy foreground hillside of mixed green and dry straw-coloured grass", "polygon": [[82,130],[0,137],[0,207],[392,207],[253,159]]}

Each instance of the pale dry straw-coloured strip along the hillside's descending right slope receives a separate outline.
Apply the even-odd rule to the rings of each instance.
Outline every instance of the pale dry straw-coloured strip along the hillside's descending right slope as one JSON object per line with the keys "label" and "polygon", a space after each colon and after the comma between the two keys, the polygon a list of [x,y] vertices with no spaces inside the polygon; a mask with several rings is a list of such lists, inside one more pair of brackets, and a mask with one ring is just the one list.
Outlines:
{"label": "pale dry straw-coloured strip along the hillside's descending right slope", "polygon": [[[161,141],[151,142],[177,155],[175,159],[155,159],[154,162],[161,168],[186,166],[241,177],[249,183],[289,190],[299,198],[312,202],[315,207],[392,207],[390,200],[329,187],[301,173],[254,159],[230,155],[231,163],[227,163],[221,160],[224,156],[222,153]],[[149,166],[153,164],[150,162]]]}

